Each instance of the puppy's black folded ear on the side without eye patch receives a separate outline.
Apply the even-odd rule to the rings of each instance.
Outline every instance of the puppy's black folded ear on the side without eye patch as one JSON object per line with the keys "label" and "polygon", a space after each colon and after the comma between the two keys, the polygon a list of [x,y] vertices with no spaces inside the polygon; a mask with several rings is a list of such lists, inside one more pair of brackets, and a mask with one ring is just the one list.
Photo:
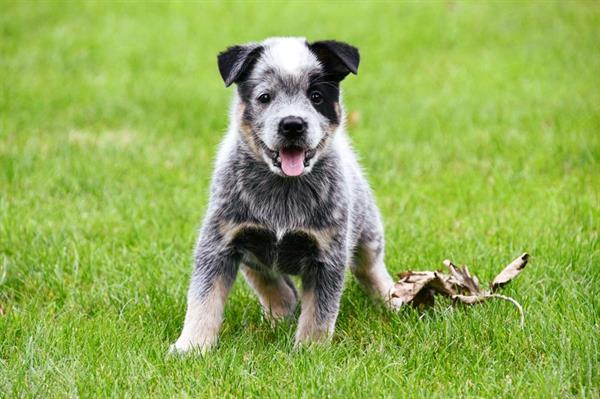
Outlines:
{"label": "puppy's black folded ear on the side without eye patch", "polygon": [[219,53],[217,61],[225,87],[243,80],[250,72],[262,50],[263,47],[258,44],[247,44],[232,46]]}

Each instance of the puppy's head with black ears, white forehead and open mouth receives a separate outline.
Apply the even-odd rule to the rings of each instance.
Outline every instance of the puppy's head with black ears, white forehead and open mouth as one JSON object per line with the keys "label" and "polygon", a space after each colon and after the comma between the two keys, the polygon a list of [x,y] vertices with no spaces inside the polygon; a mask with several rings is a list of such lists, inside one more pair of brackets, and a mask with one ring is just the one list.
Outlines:
{"label": "puppy's head with black ears, white forehead and open mouth", "polygon": [[310,172],[341,123],[340,82],[356,74],[358,50],[346,43],[273,38],[233,46],[219,71],[238,87],[244,143],[283,176]]}

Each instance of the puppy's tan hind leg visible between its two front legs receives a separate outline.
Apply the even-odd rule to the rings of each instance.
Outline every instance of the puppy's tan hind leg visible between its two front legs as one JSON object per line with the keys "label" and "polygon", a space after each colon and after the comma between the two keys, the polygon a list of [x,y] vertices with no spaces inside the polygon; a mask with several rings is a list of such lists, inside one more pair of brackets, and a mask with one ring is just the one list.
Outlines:
{"label": "puppy's tan hind leg visible between its two front legs", "polygon": [[270,276],[246,265],[242,265],[241,270],[268,318],[277,321],[294,313],[298,293],[288,276]]}

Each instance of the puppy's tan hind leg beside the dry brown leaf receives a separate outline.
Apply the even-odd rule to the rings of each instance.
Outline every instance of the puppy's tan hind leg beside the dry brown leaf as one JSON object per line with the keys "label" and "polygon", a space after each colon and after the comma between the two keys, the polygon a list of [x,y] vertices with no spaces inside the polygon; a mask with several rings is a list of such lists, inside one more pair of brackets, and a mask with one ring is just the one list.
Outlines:
{"label": "puppy's tan hind leg beside the dry brown leaf", "polygon": [[402,302],[392,298],[394,281],[383,262],[383,232],[379,226],[367,226],[361,234],[350,262],[350,270],[362,288],[385,304],[397,309]]}

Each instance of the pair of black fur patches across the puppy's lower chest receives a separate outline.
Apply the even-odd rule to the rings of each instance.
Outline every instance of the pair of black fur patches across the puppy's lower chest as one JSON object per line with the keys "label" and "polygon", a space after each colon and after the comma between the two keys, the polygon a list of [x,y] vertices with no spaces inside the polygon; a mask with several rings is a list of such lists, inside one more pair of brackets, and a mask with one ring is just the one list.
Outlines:
{"label": "pair of black fur patches across the puppy's lower chest", "polygon": [[310,229],[275,231],[260,225],[237,226],[230,245],[247,266],[301,274],[329,245],[326,232]]}

